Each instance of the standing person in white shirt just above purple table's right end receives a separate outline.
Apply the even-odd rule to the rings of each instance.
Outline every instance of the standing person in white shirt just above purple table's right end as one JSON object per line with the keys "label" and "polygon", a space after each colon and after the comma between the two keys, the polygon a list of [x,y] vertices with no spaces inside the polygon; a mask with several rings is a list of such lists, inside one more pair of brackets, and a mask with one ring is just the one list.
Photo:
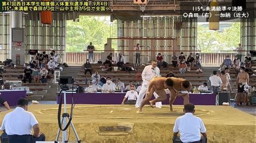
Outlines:
{"label": "standing person in white shirt just above purple table's right end", "polygon": [[213,70],[213,76],[209,80],[211,81],[212,93],[216,95],[219,91],[220,84],[222,84],[220,77],[217,76],[217,70]]}

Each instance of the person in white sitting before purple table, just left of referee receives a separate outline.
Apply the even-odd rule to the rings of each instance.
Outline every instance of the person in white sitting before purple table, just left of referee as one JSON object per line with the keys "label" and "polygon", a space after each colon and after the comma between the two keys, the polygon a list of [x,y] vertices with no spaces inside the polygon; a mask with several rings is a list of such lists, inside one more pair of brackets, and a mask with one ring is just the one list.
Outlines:
{"label": "person in white sitting before purple table, just left of referee", "polygon": [[[135,89],[135,87],[134,87],[134,85],[132,85],[131,90],[126,92],[122,104],[130,104],[130,105],[136,104],[136,99],[138,97],[138,93],[136,91],[134,91],[134,89]],[[126,101],[127,98],[128,98],[128,100]]]}

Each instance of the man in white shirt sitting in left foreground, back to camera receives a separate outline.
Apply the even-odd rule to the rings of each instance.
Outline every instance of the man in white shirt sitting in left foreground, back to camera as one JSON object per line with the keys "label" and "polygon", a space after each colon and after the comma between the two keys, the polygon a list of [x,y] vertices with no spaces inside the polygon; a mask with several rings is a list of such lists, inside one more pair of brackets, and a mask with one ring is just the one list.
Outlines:
{"label": "man in white shirt sitting in left foreground, back to camera", "polygon": [[25,98],[20,98],[17,108],[7,113],[3,119],[1,130],[4,133],[2,136],[8,135],[10,143],[45,141],[45,135],[40,133],[38,121],[33,113],[28,112],[28,103]]}

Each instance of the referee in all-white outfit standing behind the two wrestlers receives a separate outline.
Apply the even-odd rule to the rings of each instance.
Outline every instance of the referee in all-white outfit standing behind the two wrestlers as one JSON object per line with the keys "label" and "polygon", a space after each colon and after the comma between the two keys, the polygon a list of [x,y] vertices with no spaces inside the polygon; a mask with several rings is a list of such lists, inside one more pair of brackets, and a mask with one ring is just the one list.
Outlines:
{"label": "referee in all-white outfit standing behind the two wrestlers", "polygon": [[[153,60],[151,65],[146,66],[142,71],[142,89],[139,91],[139,96],[137,98],[137,102],[135,104],[136,108],[139,108],[140,104],[142,104],[143,97],[147,92],[147,87],[149,87],[149,82],[154,76],[160,76],[160,69],[157,67],[157,60]],[[158,95],[154,92],[154,97],[157,98]],[[156,102],[156,108],[161,108],[162,103]]]}

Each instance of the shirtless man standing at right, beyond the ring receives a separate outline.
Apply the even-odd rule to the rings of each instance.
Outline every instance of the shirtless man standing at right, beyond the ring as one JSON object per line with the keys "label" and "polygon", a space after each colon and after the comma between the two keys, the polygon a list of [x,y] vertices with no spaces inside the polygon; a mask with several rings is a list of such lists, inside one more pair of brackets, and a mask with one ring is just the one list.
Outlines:
{"label": "shirtless man standing at right, beyond the ring", "polygon": [[249,75],[245,72],[245,67],[240,68],[240,73],[237,75],[237,96],[235,96],[235,101],[237,105],[240,105],[240,102],[243,102],[242,105],[246,105],[246,93],[245,85],[249,84]]}

